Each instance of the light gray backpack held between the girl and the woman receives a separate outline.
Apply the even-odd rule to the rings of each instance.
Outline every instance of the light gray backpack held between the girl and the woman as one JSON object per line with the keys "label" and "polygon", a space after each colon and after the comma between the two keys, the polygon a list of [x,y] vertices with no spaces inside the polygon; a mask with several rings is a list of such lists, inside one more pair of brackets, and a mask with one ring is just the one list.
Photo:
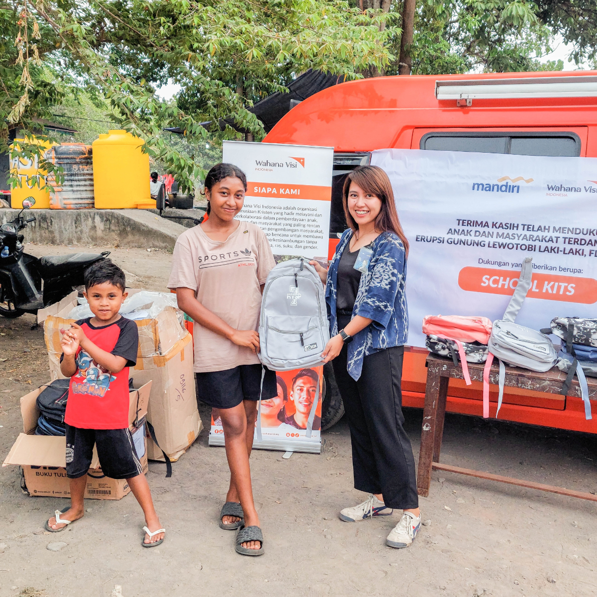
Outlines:
{"label": "light gray backpack held between the girl and the woman", "polygon": [[[301,257],[278,263],[267,276],[259,318],[259,360],[273,371],[292,371],[322,365],[321,353],[330,340],[324,285],[309,261]],[[265,371],[265,370],[263,370]],[[263,389],[263,374],[261,375]],[[307,420],[311,437],[317,399]],[[257,441],[261,441],[261,397],[257,414]]]}

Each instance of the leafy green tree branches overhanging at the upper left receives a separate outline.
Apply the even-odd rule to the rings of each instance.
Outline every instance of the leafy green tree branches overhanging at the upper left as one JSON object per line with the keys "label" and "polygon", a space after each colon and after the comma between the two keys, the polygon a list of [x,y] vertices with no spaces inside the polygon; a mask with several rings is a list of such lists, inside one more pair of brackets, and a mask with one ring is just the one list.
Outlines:
{"label": "leafy green tree branches overhanging at the upper left", "polygon": [[[4,109],[12,110],[8,118],[32,130],[33,118],[59,100],[59,82],[62,88],[76,84],[102,97],[114,126],[141,137],[144,150],[167,164],[183,189],[202,170],[167,142],[165,126],[205,142],[210,132],[200,123],[232,115],[236,124],[260,134],[261,124],[247,106],[262,94],[285,91],[293,74],[315,68],[350,79],[393,60],[386,44],[396,34],[390,16],[364,15],[341,1],[38,0],[35,7],[30,0],[8,1],[4,18],[13,19],[14,32],[20,28],[17,49],[24,53],[22,63],[18,56],[8,61],[11,81],[19,81],[1,92]],[[37,30],[47,48],[38,48],[39,66],[31,44]],[[7,46],[16,37],[0,35]],[[43,88],[44,76],[56,97],[34,104],[29,93]],[[155,96],[156,85],[167,79],[198,98],[192,113]],[[7,139],[7,122],[2,125]]]}

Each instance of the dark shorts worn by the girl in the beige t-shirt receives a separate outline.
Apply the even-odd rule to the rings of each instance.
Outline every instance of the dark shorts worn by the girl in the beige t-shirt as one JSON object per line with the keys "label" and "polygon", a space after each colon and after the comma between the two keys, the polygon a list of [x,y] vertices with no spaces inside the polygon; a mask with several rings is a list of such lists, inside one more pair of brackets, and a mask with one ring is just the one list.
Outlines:
{"label": "dark shorts worn by the girl in the beige t-shirt", "polygon": [[[224,371],[196,373],[197,396],[212,408],[234,408],[243,400],[259,400],[261,365],[239,365]],[[263,395],[269,400],[278,394],[276,372],[265,367]]]}

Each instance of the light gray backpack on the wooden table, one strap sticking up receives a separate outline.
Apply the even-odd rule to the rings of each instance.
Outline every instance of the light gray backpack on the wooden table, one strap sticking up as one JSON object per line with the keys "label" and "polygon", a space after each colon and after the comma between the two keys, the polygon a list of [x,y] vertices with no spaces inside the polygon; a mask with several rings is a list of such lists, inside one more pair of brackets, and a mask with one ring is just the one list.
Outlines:
{"label": "light gray backpack on the wooden table, one strap sticking up", "polygon": [[516,286],[506,312],[502,319],[493,322],[493,328],[491,328],[489,351],[499,359],[500,363],[497,413],[500,412],[504,393],[506,378],[504,362],[514,367],[543,372],[549,371],[558,359],[552,341],[545,334],[514,322],[531,287],[532,261],[531,257],[525,257],[518,286]]}

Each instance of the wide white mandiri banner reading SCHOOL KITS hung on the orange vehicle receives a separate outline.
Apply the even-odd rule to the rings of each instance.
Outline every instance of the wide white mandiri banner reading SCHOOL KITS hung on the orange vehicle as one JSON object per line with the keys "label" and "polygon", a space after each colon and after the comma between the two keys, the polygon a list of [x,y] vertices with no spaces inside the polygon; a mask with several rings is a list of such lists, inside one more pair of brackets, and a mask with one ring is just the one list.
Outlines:
{"label": "wide white mandiri banner reading SCHOOL KITS hung on the orange vehicle", "polygon": [[516,319],[595,317],[597,159],[382,149],[410,242],[408,344],[424,315],[501,319],[524,257],[533,285]]}

